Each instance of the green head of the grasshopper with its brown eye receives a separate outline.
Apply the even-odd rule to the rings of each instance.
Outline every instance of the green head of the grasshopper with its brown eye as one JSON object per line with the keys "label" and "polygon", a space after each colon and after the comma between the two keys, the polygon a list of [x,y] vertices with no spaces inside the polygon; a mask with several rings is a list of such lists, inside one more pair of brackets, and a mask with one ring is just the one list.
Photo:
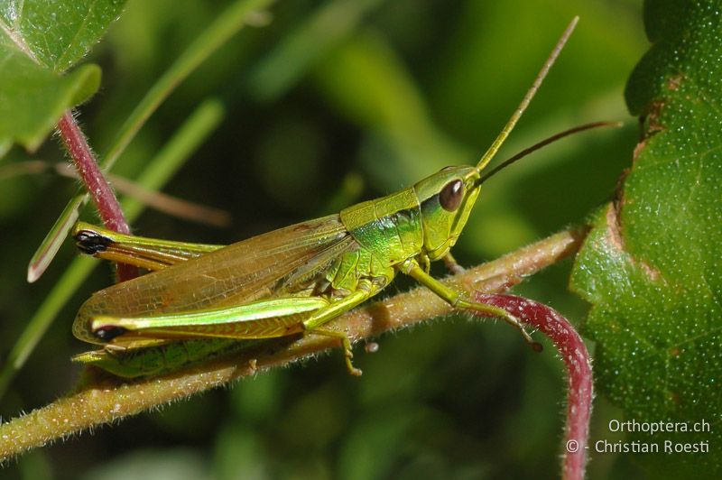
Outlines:
{"label": "green head of the grasshopper with its brown eye", "polygon": [[413,186],[421,202],[423,246],[438,260],[457,243],[479,195],[477,167],[447,167]]}

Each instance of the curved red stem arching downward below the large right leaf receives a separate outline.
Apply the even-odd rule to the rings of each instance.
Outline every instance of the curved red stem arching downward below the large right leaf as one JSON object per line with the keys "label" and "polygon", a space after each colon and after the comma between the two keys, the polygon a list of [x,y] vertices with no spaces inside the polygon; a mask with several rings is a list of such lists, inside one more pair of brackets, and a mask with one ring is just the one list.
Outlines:
{"label": "curved red stem arching downward below the large right leaf", "polygon": [[523,323],[538,328],[559,350],[569,374],[562,478],[582,480],[587,463],[589,420],[594,396],[592,364],[587,347],[569,320],[542,303],[501,293],[477,293],[475,298],[481,303],[501,307]]}

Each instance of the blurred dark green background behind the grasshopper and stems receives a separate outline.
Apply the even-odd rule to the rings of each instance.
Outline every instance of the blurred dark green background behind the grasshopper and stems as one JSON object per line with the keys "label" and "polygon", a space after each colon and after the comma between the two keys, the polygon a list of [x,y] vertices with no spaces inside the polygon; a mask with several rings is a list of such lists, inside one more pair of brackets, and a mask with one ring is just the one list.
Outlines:
{"label": "blurred dark green background behind the grasshopper and stems", "polygon": [[[97,152],[153,82],[226,2],[130,0],[88,60],[101,91],[80,110]],[[148,211],[139,235],[231,243],[476,162],[513,112],[569,20],[560,60],[500,157],[571,126],[625,128],[569,138],[495,176],[462,235],[462,264],[482,263],[579,223],[612,195],[631,161],[636,123],[625,80],[647,48],[638,0],[289,0],[273,5],[195,71],[116,165],[133,177],[208,97],[218,129],[166,192],[233,217],[227,228]],[[27,158],[61,162],[57,142]],[[501,158],[500,158],[501,160]],[[42,279],[25,282],[34,249],[73,193],[51,174],[0,178],[0,354],[76,255],[71,242]],[[95,221],[90,209],[83,218]],[[514,291],[580,325],[570,261]],[[437,272],[442,273],[442,270]],[[80,303],[112,282],[88,279],[13,383],[4,419],[66,392],[79,374],[70,334]],[[389,293],[408,287],[401,282]],[[124,420],[42,448],[0,475],[23,478],[553,478],[559,475],[565,383],[548,346],[534,355],[511,329],[443,318],[356,347],[360,379],[338,352],[305,365]],[[592,440],[621,413],[597,398]],[[589,478],[636,478],[621,456],[595,455]]]}

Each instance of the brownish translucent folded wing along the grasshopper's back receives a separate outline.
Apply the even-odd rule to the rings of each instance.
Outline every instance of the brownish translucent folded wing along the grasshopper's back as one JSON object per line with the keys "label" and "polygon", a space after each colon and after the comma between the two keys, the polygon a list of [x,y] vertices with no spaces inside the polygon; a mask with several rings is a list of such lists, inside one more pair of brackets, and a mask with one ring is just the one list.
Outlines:
{"label": "brownish translucent folded wing along the grasshopper's back", "polygon": [[73,333],[100,343],[89,330],[97,316],[192,312],[291,294],[355,247],[338,215],[286,226],[98,291],[80,308]]}

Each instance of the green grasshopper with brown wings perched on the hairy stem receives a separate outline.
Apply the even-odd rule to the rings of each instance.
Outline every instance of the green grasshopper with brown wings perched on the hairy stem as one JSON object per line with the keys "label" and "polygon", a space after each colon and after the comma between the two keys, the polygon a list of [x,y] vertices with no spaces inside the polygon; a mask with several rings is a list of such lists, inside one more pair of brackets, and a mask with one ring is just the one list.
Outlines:
{"label": "green grasshopper with brown wings perched on the hairy stem", "polygon": [[[98,291],[83,304],[73,333],[105,348],[76,360],[133,377],[153,374],[158,365],[172,368],[176,361],[202,359],[237,340],[312,334],[338,338],[348,371],[360,375],[351,361],[347,335],[324,325],[383,291],[398,273],[411,276],[455,309],[503,318],[539,347],[514,315],[467,299],[429,270],[437,260],[460,269],[450,249],[489,176],[482,176],[482,170],[514,129],[577,20],[569,23],[476,166],[447,167],[411,188],[338,215],[223,247],[120,235],[79,223],[73,235],[82,252],[152,272]],[[162,350],[153,350],[158,347]],[[144,354],[151,351],[156,352],[152,361]],[[124,357],[140,363],[123,363]],[[155,366],[148,368],[149,362]]]}

